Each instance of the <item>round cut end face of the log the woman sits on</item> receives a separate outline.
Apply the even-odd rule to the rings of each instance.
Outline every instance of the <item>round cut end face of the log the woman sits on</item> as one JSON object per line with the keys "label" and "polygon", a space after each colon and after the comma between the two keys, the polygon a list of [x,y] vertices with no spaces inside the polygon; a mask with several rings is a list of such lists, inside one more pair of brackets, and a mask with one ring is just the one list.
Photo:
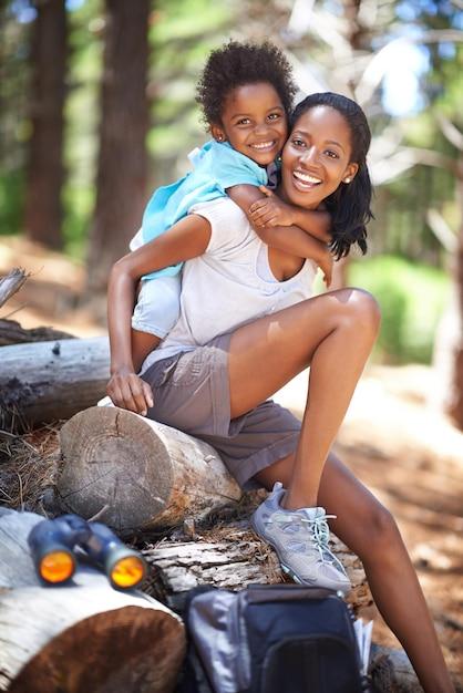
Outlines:
{"label": "round cut end face of the log the woman sits on", "polygon": [[105,507],[102,521],[120,530],[144,527],[164,510],[172,462],[140,416],[92,407],[64,424],[60,437],[64,468],[58,492],[65,508],[89,518]]}

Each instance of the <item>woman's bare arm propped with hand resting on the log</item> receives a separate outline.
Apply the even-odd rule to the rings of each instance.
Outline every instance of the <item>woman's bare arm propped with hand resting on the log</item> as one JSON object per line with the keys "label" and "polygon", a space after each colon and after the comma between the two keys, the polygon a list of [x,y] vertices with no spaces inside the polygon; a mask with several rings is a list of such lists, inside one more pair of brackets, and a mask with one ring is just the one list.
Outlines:
{"label": "woman's bare arm propped with hand resting on the log", "polygon": [[131,318],[140,278],[203,255],[209,239],[209,223],[189,215],[113,266],[107,286],[111,379],[106,392],[116,406],[143,415],[153,406],[151,389],[135,374],[132,361]]}

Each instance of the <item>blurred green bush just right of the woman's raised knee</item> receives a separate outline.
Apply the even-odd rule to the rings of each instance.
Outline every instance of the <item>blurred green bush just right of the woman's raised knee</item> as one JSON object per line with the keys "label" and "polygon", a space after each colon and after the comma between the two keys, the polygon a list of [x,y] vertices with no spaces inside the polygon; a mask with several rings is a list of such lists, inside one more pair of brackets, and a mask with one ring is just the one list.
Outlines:
{"label": "blurred green bush just right of the woman's raised knee", "polygon": [[381,306],[381,360],[430,363],[436,325],[449,300],[445,272],[385,256],[352,262],[349,283],[370,291]]}

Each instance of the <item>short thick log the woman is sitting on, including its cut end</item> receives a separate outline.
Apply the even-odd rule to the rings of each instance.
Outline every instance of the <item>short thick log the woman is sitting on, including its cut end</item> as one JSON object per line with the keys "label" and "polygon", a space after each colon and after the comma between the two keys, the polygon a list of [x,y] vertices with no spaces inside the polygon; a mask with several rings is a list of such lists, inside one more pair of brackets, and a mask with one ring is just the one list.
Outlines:
{"label": "short thick log the woman is sitting on, including its cut end", "polygon": [[60,442],[61,505],[117,530],[172,527],[241,496],[210,445],[114,406],[76,414]]}

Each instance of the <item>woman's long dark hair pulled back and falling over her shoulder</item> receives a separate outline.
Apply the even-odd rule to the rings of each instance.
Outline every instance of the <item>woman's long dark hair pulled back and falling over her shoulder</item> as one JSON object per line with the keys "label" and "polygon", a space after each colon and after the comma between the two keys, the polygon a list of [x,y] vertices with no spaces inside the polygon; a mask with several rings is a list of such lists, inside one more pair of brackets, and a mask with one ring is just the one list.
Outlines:
{"label": "woman's long dark hair pulled back and falling over her shoulder", "polygon": [[332,92],[310,94],[298,103],[292,113],[291,127],[295,127],[303,113],[316,106],[329,106],[342,115],[350,130],[352,147],[350,159],[359,165],[352,182],[341,183],[338,189],[325,200],[331,215],[331,250],[339,260],[348,255],[350,247],[357,242],[364,255],[367,252],[367,224],[373,218],[370,209],[372,187],[367,167],[367,153],[371,142],[370,127],[359,104]]}

